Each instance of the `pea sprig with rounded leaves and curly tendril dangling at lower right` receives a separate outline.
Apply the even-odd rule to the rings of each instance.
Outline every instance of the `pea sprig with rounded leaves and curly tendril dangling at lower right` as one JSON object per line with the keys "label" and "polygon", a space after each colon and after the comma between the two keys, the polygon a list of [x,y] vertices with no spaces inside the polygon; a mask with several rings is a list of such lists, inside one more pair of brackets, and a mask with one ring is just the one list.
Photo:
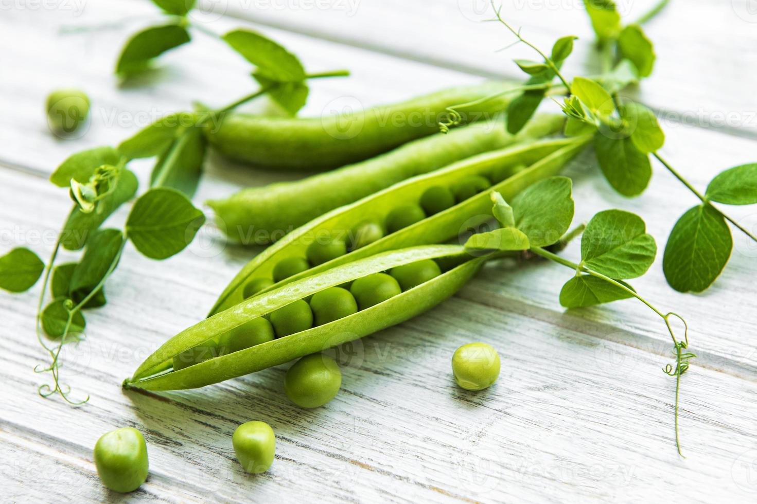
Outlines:
{"label": "pea sprig with rounded leaves and curly tendril dangling at lower right", "polygon": [[[572,182],[567,177],[552,177],[537,182],[521,191],[508,204],[498,192],[491,194],[492,213],[500,223],[499,229],[472,235],[465,244],[475,254],[509,254],[528,251],[574,270],[559,293],[559,302],[565,308],[578,308],[609,303],[631,297],[640,300],[664,322],[674,345],[675,363],[663,371],[676,378],[674,426],[675,443],[681,454],[678,436],[678,392],[681,375],[689,368],[693,353],[684,352],[689,346],[688,325],[678,313],[665,313],[642,297],[626,280],[643,275],[655,260],[657,246],[652,235],[646,233],[643,220],[623,210],[604,210],[585,225],[568,231],[573,220],[575,204]],[[555,244],[561,248],[581,234],[581,260],[572,260],[550,251]],[[554,249],[553,249],[554,250]],[[677,338],[671,319],[684,324],[683,338]]]}

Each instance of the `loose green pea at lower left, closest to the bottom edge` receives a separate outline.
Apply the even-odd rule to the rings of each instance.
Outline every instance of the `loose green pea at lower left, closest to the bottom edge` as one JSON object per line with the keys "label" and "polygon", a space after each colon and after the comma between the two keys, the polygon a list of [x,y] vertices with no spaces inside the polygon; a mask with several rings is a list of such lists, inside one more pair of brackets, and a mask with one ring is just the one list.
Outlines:
{"label": "loose green pea at lower left, closest to the bottom edge", "polygon": [[147,444],[135,428],[103,434],[95,443],[94,458],[100,481],[116,492],[136,490],[147,479]]}

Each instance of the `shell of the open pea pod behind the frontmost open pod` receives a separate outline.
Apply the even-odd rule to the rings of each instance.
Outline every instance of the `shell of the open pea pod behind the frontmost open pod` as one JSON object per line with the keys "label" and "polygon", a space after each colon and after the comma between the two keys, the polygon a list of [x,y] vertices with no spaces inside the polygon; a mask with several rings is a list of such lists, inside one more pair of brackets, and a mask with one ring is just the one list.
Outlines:
{"label": "shell of the open pea pod behind the frontmost open pod", "polygon": [[[499,191],[510,199],[528,185],[556,175],[590,141],[590,136],[560,138],[516,145],[469,157],[441,170],[426,173],[392,185],[383,191],[371,194],[353,204],[344,205],[313,219],[304,226],[285,235],[281,240],[263,250],[235,276],[218,298],[210,314],[226,310],[244,299],[248,282],[273,278],[273,269],[281,260],[290,257],[305,257],[307,247],[323,234],[350,235],[356,226],[367,220],[384,222],[386,216],[397,207],[416,203],[424,191],[432,187],[450,187],[470,176],[491,176],[497,172],[505,177],[486,190],[434,213],[410,226],[351,250],[347,254],[311,267],[265,288],[276,288],[308,275],[325,271],[349,261],[369,257],[386,250],[397,250],[420,244],[444,243],[456,237],[466,228],[480,226],[491,219],[489,190]],[[523,168],[525,166],[525,168]]]}

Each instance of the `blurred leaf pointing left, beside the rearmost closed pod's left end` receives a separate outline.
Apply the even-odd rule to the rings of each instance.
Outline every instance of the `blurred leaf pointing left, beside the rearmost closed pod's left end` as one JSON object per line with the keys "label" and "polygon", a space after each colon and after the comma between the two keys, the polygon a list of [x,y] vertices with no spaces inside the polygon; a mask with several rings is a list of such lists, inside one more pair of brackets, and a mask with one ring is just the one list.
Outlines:
{"label": "blurred leaf pointing left, beside the rearmost closed pod's left end", "polygon": [[166,151],[174,138],[195,126],[197,119],[197,115],[190,112],[161,117],[136,135],[126,138],[118,150],[129,160],[158,156]]}

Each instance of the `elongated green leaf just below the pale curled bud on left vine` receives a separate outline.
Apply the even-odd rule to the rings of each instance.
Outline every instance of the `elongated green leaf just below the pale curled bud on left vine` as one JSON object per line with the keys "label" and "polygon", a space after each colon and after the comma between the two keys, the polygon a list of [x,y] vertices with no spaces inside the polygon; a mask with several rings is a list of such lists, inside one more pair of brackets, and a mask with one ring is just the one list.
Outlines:
{"label": "elongated green leaf just below the pale curled bud on left vine", "polygon": [[61,245],[64,248],[79,250],[84,247],[89,235],[92,235],[111,213],[136,194],[137,178],[126,168],[120,170],[114,183],[114,190],[98,201],[94,211],[84,213],[76,208],[71,212],[61,231]]}

